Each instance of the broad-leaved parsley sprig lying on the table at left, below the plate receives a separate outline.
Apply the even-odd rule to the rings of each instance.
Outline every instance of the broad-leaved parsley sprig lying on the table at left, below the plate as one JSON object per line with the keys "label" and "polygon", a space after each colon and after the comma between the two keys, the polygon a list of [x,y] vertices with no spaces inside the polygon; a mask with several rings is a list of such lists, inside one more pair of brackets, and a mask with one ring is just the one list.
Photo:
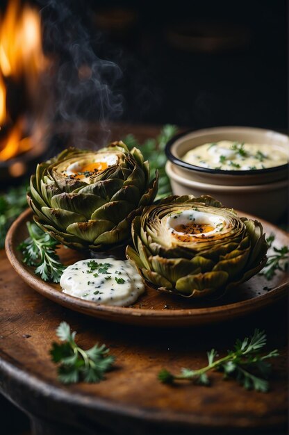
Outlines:
{"label": "broad-leaved parsley sprig lying on the table at left, below the plate", "polygon": [[64,343],[52,343],[51,359],[58,363],[58,379],[63,384],[73,384],[79,381],[99,382],[104,379],[113,362],[114,356],[108,355],[106,345],[94,345],[83,350],[75,342],[76,331],[72,332],[67,322],[61,322],[56,329],[56,335]]}

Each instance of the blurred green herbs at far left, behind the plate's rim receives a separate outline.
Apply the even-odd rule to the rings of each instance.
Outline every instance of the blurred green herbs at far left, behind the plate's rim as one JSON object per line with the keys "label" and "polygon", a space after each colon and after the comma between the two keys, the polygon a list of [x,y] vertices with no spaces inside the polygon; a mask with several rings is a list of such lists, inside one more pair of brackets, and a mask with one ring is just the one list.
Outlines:
{"label": "blurred green herbs at far left, behind the plate's rim", "polygon": [[27,208],[26,190],[26,186],[19,186],[0,195],[0,249],[4,247],[11,224]]}

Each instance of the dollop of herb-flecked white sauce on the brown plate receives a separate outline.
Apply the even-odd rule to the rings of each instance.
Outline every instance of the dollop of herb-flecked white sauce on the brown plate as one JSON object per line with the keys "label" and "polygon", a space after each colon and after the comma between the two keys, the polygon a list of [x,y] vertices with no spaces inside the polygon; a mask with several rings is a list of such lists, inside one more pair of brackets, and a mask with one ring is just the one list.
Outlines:
{"label": "dollop of herb-flecked white sauce on the brown plate", "polygon": [[114,258],[81,260],[69,265],[60,286],[67,295],[114,306],[129,306],[145,291],[133,265]]}

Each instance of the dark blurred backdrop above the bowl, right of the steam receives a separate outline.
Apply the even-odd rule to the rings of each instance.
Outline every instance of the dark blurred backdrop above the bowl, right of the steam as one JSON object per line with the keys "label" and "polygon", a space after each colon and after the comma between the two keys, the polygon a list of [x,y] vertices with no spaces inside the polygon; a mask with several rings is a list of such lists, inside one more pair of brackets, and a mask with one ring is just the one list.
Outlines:
{"label": "dark blurred backdrop above the bowl, right of the steam", "polygon": [[[2,10],[5,3],[0,2]],[[75,65],[71,47],[83,41],[97,62],[117,65],[117,77],[102,76],[111,104],[101,112],[93,89],[85,89],[68,120],[77,115],[99,121],[103,116],[190,128],[244,125],[288,131],[285,0],[34,3],[42,8],[45,50],[58,56],[60,67]],[[95,58],[88,56],[90,60]],[[65,90],[66,79],[61,84]],[[66,95],[59,86],[58,103]],[[67,106],[74,106],[66,97]],[[58,119],[63,116],[56,110]],[[2,397],[0,409],[1,434],[27,430],[28,420]]]}

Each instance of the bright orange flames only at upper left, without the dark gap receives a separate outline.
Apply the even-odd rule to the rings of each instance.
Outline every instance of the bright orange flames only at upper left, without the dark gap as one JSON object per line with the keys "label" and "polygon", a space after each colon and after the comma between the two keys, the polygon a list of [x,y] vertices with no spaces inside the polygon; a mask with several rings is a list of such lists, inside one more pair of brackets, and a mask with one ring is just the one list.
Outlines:
{"label": "bright orange flames only at upper left, without the dark gap", "polygon": [[[47,67],[42,52],[41,23],[38,10],[21,6],[19,0],[8,3],[0,18],[0,125],[8,124],[5,78],[24,78],[28,95],[35,92],[40,74]],[[29,96],[30,97],[30,96]],[[9,135],[0,142],[0,161],[6,161],[27,151],[32,145],[23,138],[24,122],[18,120]]]}

